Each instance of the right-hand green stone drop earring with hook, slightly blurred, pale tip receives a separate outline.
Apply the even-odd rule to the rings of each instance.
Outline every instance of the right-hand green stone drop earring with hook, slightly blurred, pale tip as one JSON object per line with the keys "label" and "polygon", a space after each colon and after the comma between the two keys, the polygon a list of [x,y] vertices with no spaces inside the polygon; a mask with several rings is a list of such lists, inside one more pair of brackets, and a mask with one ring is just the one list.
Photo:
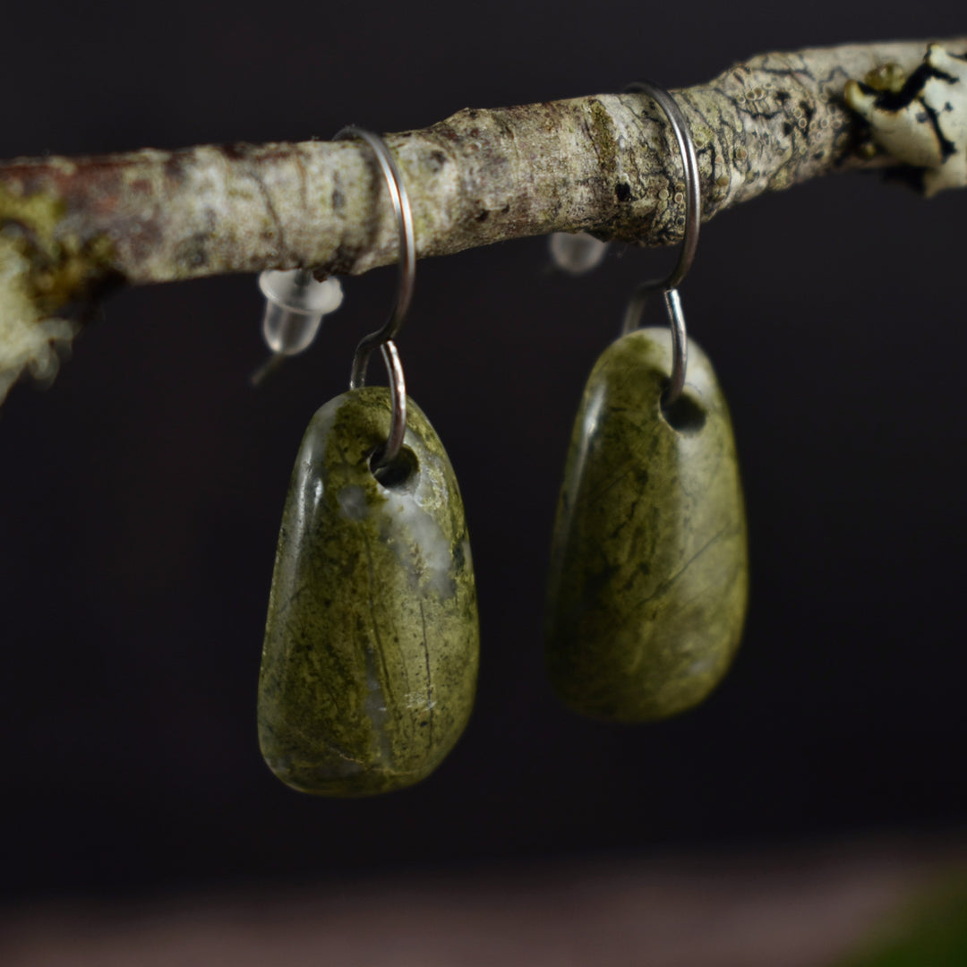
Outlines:
{"label": "right-hand green stone drop earring with hook, slightly blurred, pale tip", "polygon": [[[684,245],[669,278],[639,287],[623,335],[585,388],[551,546],[546,641],[551,683],[565,703],[622,721],[675,715],[715,688],[739,644],[748,584],[728,408],[694,343],[689,365],[677,290],[701,219],[695,149],[671,96],[635,88],[659,103],[678,140]],[[670,333],[637,329],[656,291]]]}

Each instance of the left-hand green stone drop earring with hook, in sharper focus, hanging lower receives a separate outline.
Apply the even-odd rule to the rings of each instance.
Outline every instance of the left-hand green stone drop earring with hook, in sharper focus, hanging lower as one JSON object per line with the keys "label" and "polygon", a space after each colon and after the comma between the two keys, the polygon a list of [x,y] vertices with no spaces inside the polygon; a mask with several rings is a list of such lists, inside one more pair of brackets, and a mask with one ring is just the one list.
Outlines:
{"label": "left-hand green stone drop earring with hook, in sharper focus, hanging lower", "polygon": [[[413,293],[413,216],[382,138],[399,224],[399,287],[365,337],[348,393],[308,425],[278,536],[258,687],[269,768],[303,792],[365,796],[426,777],[466,725],[479,628],[459,489],[439,437],[406,397],[396,334]],[[389,389],[366,387],[379,348]]]}

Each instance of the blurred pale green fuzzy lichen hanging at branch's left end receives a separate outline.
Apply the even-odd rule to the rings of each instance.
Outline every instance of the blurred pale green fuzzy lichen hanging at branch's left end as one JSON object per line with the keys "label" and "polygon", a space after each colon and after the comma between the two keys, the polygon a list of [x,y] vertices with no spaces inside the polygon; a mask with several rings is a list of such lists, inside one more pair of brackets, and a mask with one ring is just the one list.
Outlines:
{"label": "blurred pale green fuzzy lichen hanging at branch's left end", "polygon": [[34,306],[28,270],[15,243],[0,235],[0,403],[24,370],[38,380],[52,379],[59,363],[56,346],[74,335],[72,322],[45,318]]}

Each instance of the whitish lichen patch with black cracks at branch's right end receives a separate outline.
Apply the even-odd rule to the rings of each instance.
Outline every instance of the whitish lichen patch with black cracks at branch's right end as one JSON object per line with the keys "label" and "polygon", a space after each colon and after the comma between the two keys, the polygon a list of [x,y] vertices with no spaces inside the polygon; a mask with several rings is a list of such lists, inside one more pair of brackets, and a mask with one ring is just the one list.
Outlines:
{"label": "whitish lichen patch with black cracks at branch's right end", "polygon": [[879,73],[847,81],[844,92],[873,141],[897,161],[925,169],[928,197],[967,185],[967,57],[930,44],[902,85],[878,83]]}

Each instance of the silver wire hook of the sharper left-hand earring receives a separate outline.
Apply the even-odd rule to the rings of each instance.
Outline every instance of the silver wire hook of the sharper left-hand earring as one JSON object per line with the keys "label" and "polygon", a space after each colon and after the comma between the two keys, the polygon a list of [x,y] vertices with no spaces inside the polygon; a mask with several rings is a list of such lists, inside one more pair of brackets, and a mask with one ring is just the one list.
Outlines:
{"label": "silver wire hook of the sharper left-hand earring", "polygon": [[349,388],[355,390],[366,385],[366,365],[369,356],[377,347],[383,354],[383,362],[390,378],[390,392],[393,396],[393,413],[390,420],[390,434],[382,449],[373,455],[371,466],[373,470],[392,463],[403,446],[403,436],[406,433],[406,382],[403,378],[403,366],[396,349],[396,334],[403,325],[406,310],[413,298],[413,287],[416,282],[417,260],[416,243],[413,233],[413,211],[410,208],[409,195],[400,177],[396,161],[390,154],[386,142],[373,132],[365,131],[350,125],[337,132],[334,141],[350,137],[360,137],[372,148],[379,161],[386,187],[390,192],[390,201],[399,225],[399,285],[396,289],[396,305],[387,319],[386,324],[375,333],[363,337],[356,347],[353,356],[352,374],[349,377]]}

